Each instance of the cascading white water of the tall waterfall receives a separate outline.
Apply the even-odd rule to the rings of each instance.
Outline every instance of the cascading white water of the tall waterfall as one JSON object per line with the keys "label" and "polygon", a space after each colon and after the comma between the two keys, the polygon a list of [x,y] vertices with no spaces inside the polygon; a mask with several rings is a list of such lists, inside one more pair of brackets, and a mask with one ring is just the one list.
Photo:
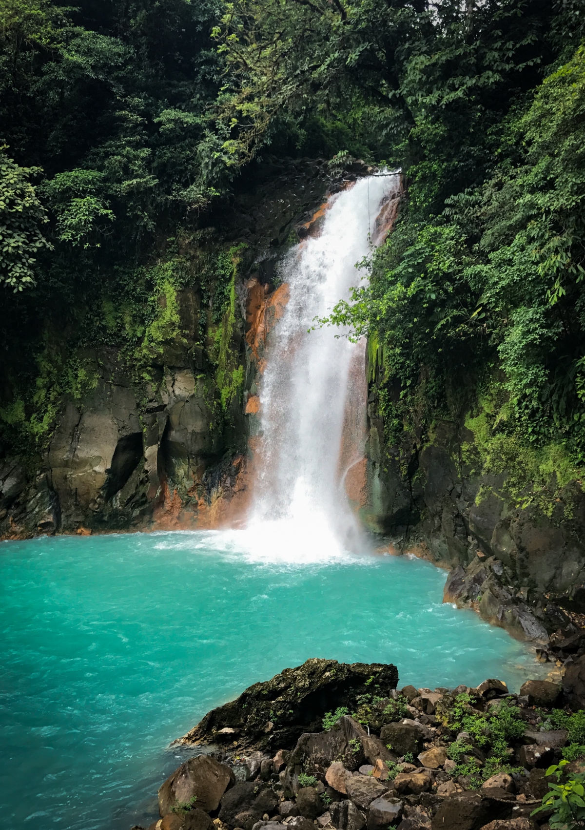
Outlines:
{"label": "cascading white water of the tall waterfall", "polygon": [[[343,330],[312,327],[359,283],[355,265],[370,252],[380,207],[398,187],[398,176],[372,176],[337,193],[320,235],[283,263],[290,299],[270,334],[260,383],[262,437],[249,522],[257,543],[263,538],[272,549],[314,550],[322,558],[359,545],[343,478],[365,426],[365,344],[351,343]],[[353,457],[344,431],[354,437]]]}

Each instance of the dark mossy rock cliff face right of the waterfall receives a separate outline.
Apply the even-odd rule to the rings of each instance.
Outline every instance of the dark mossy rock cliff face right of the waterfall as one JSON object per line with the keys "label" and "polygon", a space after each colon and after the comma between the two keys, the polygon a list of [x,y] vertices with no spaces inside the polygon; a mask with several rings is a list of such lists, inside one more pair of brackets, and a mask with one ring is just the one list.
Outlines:
{"label": "dark mossy rock cliff face right of the waterfall", "polygon": [[553,469],[539,491],[533,481],[519,490],[504,463],[497,475],[486,470],[481,435],[466,425],[464,413],[429,432],[411,429],[399,447],[390,447],[379,412],[380,372],[371,364],[370,378],[360,507],[366,525],[393,538],[396,548],[449,569],[445,601],[475,608],[519,639],[548,648],[551,634],[582,625],[580,482],[559,487]]}

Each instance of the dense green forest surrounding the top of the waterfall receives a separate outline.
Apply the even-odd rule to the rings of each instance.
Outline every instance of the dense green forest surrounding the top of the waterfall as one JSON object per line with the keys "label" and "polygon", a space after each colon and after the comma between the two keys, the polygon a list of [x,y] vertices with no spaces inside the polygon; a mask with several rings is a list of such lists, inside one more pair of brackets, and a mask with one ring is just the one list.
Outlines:
{"label": "dense green forest surrounding the top of the waterfall", "polygon": [[205,247],[200,220],[254,165],[363,159],[403,171],[399,220],[322,323],[368,334],[389,443],[467,413],[519,493],[578,478],[580,0],[0,10],[3,454],[42,450],[65,393],[93,382],[84,349],[112,346],[140,374],[181,286],[197,280],[220,318],[234,257]]}

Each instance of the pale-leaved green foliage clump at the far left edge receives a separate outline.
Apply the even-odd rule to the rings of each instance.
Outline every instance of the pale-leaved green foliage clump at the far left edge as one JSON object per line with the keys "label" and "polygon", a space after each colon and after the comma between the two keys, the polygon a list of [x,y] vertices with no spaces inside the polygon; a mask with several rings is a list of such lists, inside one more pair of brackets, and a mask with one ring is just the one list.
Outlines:
{"label": "pale-leaved green foliage clump at the far left edge", "polygon": [[51,249],[41,234],[48,222],[29,178],[40,168],[19,167],[0,147],[0,288],[13,291],[34,285],[36,256]]}

